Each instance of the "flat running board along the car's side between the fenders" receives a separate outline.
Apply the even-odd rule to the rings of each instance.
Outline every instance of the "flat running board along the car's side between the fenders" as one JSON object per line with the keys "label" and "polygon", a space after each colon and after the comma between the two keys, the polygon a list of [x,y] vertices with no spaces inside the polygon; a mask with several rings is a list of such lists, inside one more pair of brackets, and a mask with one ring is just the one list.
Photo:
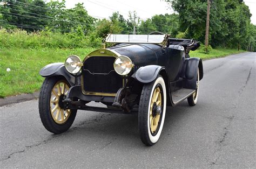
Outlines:
{"label": "flat running board along the car's side between the fenders", "polygon": [[174,105],[178,104],[181,101],[184,101],[187,97],[191,96],[196,90],[194,89],[179,89],[177,91],[172,91],[172,101]]}

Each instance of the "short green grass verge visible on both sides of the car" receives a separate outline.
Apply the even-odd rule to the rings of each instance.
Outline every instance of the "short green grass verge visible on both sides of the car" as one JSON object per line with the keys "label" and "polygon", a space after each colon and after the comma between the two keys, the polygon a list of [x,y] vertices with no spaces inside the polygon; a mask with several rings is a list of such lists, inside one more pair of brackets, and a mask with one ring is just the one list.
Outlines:
{"label": "short green grass verge visible on both sides of the car", "polygon": [[[94,49],[0,49],[0,97],[38,91],[44,79],[38,73],[42,67],[53,62],[64,62],[70,54],[76,54],[83,59]],[[210,54],[203,54],[198,50],[191,52],[190,55],[191,57],[211,59],[240,52],[244,51],[217,48]],[[10,68],[11,71],[6,72],[7,68]]]}

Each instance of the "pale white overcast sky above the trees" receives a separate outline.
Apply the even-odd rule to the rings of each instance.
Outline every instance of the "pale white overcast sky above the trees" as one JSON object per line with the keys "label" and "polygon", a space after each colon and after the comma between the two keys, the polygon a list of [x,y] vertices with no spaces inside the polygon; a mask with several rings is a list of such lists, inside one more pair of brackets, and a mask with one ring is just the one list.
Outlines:
{"label": "pale white overcast sky above the trees", "polygon": [[[245,0],[252,13],[252,23],[256,25],[256,1]],[[124,18],[128,18],[129,11],[136,11],[141,19],[151,18],[154,15],[173,13],[163,0],[66,0],[66,8],[73,8],[77,3],[84,3],[89,15],[95,18],[109,18],[113,12],[119,11]]]}

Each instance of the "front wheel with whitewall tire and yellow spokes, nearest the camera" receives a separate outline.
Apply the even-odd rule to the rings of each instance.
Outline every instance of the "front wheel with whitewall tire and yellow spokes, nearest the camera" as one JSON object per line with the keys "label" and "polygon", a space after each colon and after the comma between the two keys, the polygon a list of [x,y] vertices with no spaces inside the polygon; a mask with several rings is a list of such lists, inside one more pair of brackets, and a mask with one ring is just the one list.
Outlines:
{"label": "front wheel with whitewall tire and yellow spokes, nearest the camera", "polygon": [[162,76],[143,86],[140,95],[138,125],[145,145],[157,143],[164,125],[166,111],[166,87]]}

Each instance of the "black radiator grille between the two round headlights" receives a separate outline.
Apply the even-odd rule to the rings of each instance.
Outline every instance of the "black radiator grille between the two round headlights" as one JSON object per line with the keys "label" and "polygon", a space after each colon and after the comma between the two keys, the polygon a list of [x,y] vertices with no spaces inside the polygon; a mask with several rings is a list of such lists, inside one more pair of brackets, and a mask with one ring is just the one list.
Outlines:
{"label": "black radiator grille between the two round headlights", "polygon": [[117,93],[123,79],[114,71],[114,57],[90,57],[83,66],[83,88],[87,92]]}

